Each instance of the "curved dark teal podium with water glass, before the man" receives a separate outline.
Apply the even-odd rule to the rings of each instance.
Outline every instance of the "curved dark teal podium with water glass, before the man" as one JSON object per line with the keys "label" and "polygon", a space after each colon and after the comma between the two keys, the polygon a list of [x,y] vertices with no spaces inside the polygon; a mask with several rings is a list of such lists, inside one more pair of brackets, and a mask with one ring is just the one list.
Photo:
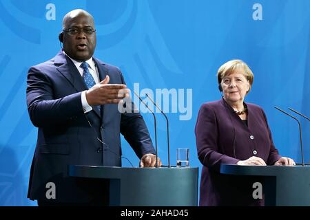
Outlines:
{"label": "curved dark teal podium with water glass, before the man", "polygon": [[198,168],[69,165],[68,175],[110,180],[110,206],[197,206]]}

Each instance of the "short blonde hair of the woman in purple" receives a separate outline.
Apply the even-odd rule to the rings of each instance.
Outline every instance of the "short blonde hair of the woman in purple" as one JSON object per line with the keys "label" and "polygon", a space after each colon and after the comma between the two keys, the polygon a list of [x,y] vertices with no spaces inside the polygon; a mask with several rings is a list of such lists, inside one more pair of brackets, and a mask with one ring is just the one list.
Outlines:
{"label": "short blonde hair of the woman in purple", "polygon": [[[245,78],[247,78],[247,80],[249,81],[249,91],[250,91],[254,80],[254,74],[247,65],[247,63],[241,60],[228,61],[227,63],[224,63],[223,65],[220,66],[217,74],[218,85],[220,85],[222,79],[225,76],[229,76],[230,74],[232,74],[234,70],[237,69],[238,67],[242,67],[243,69],[245,69]],[[247,91],[247,94],[249,93],[249,91]]]}

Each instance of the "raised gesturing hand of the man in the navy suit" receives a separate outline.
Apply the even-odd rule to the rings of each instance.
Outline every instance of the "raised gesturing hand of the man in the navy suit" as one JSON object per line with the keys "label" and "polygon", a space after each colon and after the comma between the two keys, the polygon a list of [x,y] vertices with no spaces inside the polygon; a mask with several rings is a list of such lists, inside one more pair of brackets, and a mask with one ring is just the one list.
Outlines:
{"label": "raised gesturing hand of the man in the navy suit", "polygon": [[129,97],[130,89],[125,84],[108,84],[110,77],[97,83],[86,91],[86,100],[90,105],[118,104],[123,98]]}

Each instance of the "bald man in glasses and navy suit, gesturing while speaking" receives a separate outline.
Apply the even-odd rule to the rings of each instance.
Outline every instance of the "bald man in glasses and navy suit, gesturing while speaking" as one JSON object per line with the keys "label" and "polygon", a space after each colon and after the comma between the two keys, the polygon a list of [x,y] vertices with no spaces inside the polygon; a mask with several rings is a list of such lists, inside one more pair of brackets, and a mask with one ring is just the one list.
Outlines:
{"label": "bald man in glasses and navy suit, gesturing while speaking", "polygon": [[[39,206],[106,204],[101,200],[106,183],[68,177],[68,165],[121,166],[120,133],[142,167],[154,166],[154,146],[139,113],[118,111],[130,91],[118,67],[93,57],[92,15],[85,10],[66,14],[59,41],[63,50],[28,72],[28,112],[39,128],[28,197]],[[48,183],[56,186],[55,199],[46,198]]]}

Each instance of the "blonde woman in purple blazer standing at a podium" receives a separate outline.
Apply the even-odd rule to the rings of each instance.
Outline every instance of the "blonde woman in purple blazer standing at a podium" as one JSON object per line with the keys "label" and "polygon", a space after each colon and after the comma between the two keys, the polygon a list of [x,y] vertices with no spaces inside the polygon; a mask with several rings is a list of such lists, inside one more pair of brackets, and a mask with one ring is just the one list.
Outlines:
{"label": "blonde woman in purple blazer standing at a podium", "polygon": [[198,158],[203,164],[200,206],[263,206],[252,197],[260,177],[220,174],[220,164],[295,165],[273,145],[267,118],[256,104],[245,103],[254,75],[246,63],[233,60],[218,69],[223,98],[200,107],[196,122]]}

